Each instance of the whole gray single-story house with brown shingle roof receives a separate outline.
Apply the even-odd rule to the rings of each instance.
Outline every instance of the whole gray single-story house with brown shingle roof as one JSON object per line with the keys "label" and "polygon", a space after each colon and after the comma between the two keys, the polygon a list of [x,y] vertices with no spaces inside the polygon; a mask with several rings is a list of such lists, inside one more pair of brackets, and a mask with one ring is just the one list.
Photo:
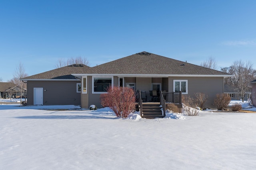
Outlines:
{"label": "whole gray single-story house with brown shingle roof", "polygon": [[27,82],[28,105],[80,105],[101,107],[100,94],[108,86],[130,87],[152,101],[152,90],[208,96],[214,107],[216,94],[224,93],[224,78],[232,75],[202,66],[140,52],[98,66],[74,64],[22,78]]}

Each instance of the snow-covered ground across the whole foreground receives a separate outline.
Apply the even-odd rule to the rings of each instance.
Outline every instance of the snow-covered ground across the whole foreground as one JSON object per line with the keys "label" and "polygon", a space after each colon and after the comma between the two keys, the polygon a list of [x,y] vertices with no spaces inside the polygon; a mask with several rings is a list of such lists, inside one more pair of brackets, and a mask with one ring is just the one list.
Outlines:
{"label": "snow-covered ground across the whole foreground", "polygon": [[108,108],[0,105],[0,169],[250,170],[255,121],[256,113],[118,119]]}

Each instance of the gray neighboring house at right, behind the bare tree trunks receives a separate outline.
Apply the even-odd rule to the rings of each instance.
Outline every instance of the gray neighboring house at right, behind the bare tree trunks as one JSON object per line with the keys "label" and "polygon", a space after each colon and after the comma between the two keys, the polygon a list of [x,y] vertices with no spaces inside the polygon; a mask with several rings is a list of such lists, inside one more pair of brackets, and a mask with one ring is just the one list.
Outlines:
{"label": "gray neighboring house at right, behind the bare tree trunks", "polygon": [[[242,99],[240,94],[237,92],[237,90],[232,87],[228,86],[227,84],[224,85],[224,93],[228,94],[231,98],[231,100],[240,100]],[[248,88],[246,90],[246,93],[244,94],[244,101],[250,99],[252,96],[252,90]]]}

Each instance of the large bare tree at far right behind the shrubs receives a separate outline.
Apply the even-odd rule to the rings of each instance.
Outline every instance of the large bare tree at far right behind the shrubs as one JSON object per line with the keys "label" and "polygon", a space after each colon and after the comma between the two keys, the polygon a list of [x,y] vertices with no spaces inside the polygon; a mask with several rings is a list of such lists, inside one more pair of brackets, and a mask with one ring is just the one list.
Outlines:
{"label": "large bare tree at far right behind the shrubs", "polygon": [[221,68],[221,70],[234,75],[226,78],[225,83],[236,89],[244,102],[244,95],[248,89],[248,84],[256,78],[256,70],[253,69],[252,63],[250,61],[244,63],[242,60],[234,61],[230,67]]}

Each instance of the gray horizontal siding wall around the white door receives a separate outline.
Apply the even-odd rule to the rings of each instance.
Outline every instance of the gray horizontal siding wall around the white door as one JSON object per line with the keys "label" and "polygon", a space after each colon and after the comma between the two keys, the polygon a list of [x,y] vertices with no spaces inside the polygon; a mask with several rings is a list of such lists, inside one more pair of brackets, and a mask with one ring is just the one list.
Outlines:
{"label": "gray horizontal siding wall around the white door", "polygon": [[44,105],[81,104],[81,94],[76,92],[80,81],[28,81],[28,105],[34,105],[34,88],[43,88]]}

